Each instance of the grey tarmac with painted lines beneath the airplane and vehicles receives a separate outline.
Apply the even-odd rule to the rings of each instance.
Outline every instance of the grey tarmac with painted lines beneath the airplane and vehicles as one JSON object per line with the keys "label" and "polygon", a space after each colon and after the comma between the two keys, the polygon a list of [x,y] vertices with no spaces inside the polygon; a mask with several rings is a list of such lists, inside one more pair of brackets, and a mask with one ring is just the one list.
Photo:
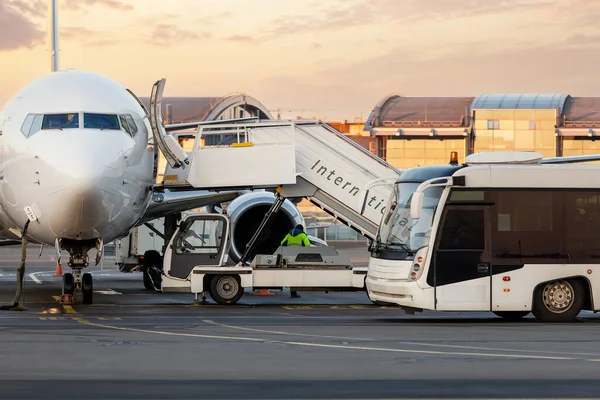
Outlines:
{"label": "grey tarmac with painted lines beneath the airplane and vehicles", "polygon": [[[356,262],[364,248],[344,247]],[[29,246],[26,311],[0,312],[2,399],[599,398],[600,315],[407,315],[365,293],[245,293],[235,306],[143,288],[107,258],[95,303],[61,306],[51,249]],[[18,246],[0,248],[0,303]],[[65,272],[67,272],[65,270]]]}

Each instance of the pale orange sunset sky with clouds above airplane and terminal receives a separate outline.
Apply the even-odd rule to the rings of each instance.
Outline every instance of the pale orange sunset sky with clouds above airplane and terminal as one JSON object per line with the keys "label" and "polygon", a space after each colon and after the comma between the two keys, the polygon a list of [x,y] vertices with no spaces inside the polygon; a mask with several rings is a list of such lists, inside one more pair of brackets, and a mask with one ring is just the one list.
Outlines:
{"label": "pale orange sunset sky with clouds above airplane and terminal", "polygon": [[[600,96],[598,0],[58,0],[60,68],[149,96],[246,92],[282,116],[383,96]],[[49,72],[47,1],[0,0],[0,105]]]}

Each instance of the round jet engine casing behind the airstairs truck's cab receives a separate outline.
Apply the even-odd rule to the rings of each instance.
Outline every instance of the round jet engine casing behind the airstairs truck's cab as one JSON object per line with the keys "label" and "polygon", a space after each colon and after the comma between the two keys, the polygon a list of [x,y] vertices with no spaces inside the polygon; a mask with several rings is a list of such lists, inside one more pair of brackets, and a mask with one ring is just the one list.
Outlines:
{"label": "round jet engine casing behind the airstairs truck's cab", "polygon": [[[263,221],[265,214],[275,202],[271,192],[247,193],[237,197],[227,207],[231,222],[230,259],[237,263],[246,250],[246,245]],[[270,226],[263,231],[255,254],[273,254],[285,235],[296,225],[304,225],[304,217],[296,206],[285,200]]]}

